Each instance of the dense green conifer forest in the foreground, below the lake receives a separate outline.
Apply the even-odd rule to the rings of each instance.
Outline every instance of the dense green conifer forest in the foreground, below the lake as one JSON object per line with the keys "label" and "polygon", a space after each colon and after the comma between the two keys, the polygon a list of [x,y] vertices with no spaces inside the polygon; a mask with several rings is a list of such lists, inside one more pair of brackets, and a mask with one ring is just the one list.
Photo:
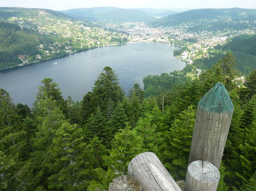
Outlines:
{"label": "dense green conifer forest in the foreground, below the lake", "polygon": [[15,105],[0,89],[0,190],[106,191],[143,151],[156,153],[176,181],[184,180],[197,103],[222,82],[235,109],[218,191],[255,191],[256,70],[239,88],[234,64],[227,54],[199,78],[160,84],[166,91],[152,98],[144,93],[154,80],[145,91],[135,84],[125,96],[110,67],[77,103],[64,100],[50,78],[42,80],[33,108]]}

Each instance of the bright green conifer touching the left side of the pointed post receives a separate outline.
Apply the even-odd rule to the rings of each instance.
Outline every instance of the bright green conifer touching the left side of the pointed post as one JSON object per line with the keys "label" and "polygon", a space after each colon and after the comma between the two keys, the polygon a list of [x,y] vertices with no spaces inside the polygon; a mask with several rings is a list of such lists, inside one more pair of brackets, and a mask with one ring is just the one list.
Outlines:
{"label": "bright green conifer touching the left side of the pointed post", "polygon": [[175,180],[183,180],[186,176],[195,116],[196,111],[189,106],[174,120],[166,136],[165,166]]}

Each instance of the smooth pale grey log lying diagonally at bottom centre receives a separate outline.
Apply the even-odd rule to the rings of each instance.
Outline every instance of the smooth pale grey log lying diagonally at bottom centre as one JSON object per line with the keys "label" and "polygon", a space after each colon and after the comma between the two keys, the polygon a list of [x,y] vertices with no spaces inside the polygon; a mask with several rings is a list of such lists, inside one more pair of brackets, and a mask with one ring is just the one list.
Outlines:
{"label": "smooth pale grey log lying diagonally at bottom centre", "polygon": [[138,180],[142,191],[181,191],[153,152],[143,152],[134,157],[128,172]]}

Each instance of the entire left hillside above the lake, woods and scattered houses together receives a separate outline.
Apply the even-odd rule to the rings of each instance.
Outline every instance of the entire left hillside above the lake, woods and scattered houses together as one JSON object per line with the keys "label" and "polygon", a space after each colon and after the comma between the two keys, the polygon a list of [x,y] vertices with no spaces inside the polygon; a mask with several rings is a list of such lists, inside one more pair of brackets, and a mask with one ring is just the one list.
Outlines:
{"label": "entire left hillside above the lake, woods and scattered houses together", "polygon": [[125,44],[128,37],[58,11],[3,7],[0,8],[0,70],[99,46]]}

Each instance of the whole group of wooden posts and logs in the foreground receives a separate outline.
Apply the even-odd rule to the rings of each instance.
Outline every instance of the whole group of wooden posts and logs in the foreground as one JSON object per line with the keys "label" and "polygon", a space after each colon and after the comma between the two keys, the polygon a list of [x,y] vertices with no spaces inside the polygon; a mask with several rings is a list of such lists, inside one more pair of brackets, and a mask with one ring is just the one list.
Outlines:
{"label": "whole group of wooden posts and logs in the foreground", "polygon": [[233,111],[222,83],[217,83],[198,102],[185,183],[175,182],[154,153],[144,152],[131,160],[130,176],[114,179],[109,191],[216,191]]}

